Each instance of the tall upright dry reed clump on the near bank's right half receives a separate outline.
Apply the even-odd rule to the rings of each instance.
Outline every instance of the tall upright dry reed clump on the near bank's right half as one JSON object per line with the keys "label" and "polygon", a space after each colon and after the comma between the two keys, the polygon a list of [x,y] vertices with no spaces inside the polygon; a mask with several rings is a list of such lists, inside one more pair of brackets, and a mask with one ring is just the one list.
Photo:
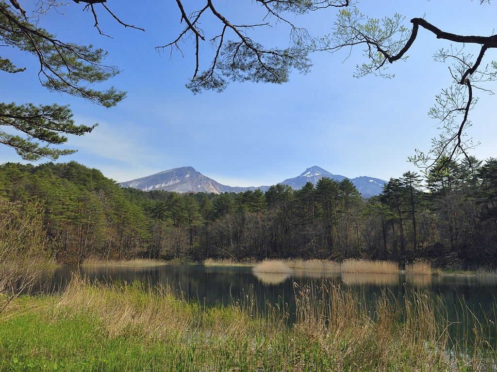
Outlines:
{"label": "tall upright dry reed clump on the near bank's right half", "polygon": [[405,297],[401,308],[382,293],[373,312],[357,293],[331,283],[298,289],[296,297],[297,333],[345,366],[357,366],[352,370],[450,370],[447,322],[436,321],[437,309],[426,295]]}

